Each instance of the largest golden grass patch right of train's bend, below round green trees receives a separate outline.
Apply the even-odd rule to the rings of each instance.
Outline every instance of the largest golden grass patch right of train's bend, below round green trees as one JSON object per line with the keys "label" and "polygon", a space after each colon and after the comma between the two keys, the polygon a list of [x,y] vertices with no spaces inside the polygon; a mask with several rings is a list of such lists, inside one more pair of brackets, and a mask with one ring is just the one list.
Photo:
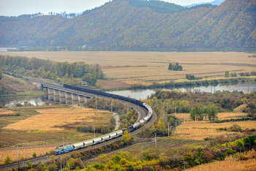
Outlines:
{"label": "largest golden grass patch right of train's bend, below round green trees", "polygon": [[[256,129],[256,121],[240,121],[228,123],[209,123],[208,121],[186,121],[177,127],[175,135],[178,138],[191,140],[204,140],[206,137],[219,136],[223,134],[234,134],[234,132],[217,131],[219,128],[230,127],[238,124],[241,129]],[[236,134],[242,134],[236,132]]]}

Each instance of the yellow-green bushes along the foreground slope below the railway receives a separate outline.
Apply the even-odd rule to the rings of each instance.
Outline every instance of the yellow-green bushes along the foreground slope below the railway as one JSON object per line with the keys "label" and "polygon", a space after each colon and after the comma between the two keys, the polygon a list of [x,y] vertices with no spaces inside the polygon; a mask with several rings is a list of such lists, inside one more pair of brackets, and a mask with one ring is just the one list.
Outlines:
{"label": "yellow-green bushes along the foreground slope below the railway", "polygon": [[[90,159],[99,153],[106,153],[111,149],[121,148],[121,141],[118,140],[110,145],[95,148],[85,152],[72,152],[70,156],[62,157],[62,166],[60,159],[51,156],[47,164],[37,164],[34,168],[64,168],[64,170],[183,170],[189,167],[195,167],[199,164],[206,164],[211,161],[222,161],[227,156],[236,153],[251,151],[256,148],[256,136],[248,137],[218,137],[211,140],[207,146],[187,146],[185,148],[173,148],[171,153],[163,156],[162,151],[157,148],[142,150],[140,157],[137,158],[127,151],[118,151],[112,155],[100,154],[96,161],[83,165],[82,159]],[[118,146],[120,145],[120,146]],[[135,148],[135,147],[133,147]]]}

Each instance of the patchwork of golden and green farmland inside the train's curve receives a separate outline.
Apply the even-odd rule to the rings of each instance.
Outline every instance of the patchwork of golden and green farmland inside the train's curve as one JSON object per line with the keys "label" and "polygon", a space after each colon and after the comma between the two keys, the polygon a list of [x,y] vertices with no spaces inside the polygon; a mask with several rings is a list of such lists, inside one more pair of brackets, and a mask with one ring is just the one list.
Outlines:
{"label": "patchwork of golden and green farmland inside the train's curve", "polygon": [[69,143],[94,137],[93,133],[78,132],[76,128],[108,126],[113,115],[104,110],[64,105],[12,107],[1,109],[0,113],[4,115],[0,117],[0,164],[7,155],[12,161],[17,160],[17,145],[20,158],[26,159],[33,153],[39,156],[53,151],[63,139]]}

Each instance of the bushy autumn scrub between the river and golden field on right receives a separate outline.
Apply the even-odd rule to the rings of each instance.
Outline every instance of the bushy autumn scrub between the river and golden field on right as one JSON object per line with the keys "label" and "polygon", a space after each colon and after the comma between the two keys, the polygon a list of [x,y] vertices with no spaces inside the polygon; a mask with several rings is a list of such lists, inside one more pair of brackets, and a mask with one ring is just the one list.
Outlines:
{"label": "bushy autumn scrub between the river and golden field on right", "polygon": [[254,115],[256,113],[255,94],[256,91],[251,94],[244,94],[238,91],[217,91],[214,94],[206,92],[157,91],[156,94],[151,95],[150,100],[147,100],[147,102],[151,104],[154,111],[159,111],[159,113],[166,113],[166,109],[167,113],[190,113],[192,107],[196,106],[200,107],[201,110],[205,107],[212,107],[212,110],[217,112],[230,112],[241,104],[246,104],[246,111]]}

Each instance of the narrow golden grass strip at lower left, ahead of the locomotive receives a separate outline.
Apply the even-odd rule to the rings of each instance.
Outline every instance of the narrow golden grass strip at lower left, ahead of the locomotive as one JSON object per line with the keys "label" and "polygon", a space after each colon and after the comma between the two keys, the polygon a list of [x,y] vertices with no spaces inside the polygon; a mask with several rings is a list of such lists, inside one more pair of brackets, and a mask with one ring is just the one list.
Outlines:
{"label": "narrow golden grass strip at lower left, ahead of the locomotive", "polygon": [[52,147],[26,147],[26,148],[2,148],[0,150],[0,164],[4,164],[4,160],[7,158],[7,156],[10,156],[10,159],[12,161],[18,161],[18,153],[19,153],[19,159],[22,157],[24,159],[29,159],[32,157],[33,153],[36,153],[37,156],[45,155],[45,153],[49,153],[50,151],[53,151],[55,146]]}

